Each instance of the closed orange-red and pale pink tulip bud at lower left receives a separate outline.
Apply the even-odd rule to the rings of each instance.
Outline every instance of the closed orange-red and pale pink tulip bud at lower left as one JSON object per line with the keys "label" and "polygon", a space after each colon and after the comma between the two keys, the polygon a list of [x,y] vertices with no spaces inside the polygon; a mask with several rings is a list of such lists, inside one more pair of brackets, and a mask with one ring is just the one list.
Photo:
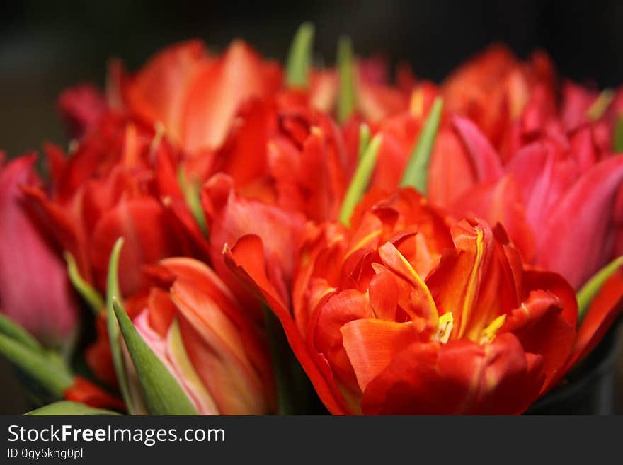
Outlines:
{"label": "closed orange-red and pale pink tulip bud at lower left", "polygon": [[275,408],[268,347],[244,307],[207,265],[166,258],[134,318],[139,335],[198,413],[256,415]]}

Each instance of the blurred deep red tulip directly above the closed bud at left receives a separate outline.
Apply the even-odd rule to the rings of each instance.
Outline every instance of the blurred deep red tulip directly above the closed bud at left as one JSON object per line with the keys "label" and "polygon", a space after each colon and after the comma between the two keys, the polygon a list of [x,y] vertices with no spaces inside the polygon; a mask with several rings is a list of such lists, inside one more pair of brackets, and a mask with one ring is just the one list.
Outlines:
{"label": "blurred deep red tulip directly above the closed bud at left", "polygon": [[[81,277],[105,289],[108,257],[118,236],[131,242],[121,257],[122,289],[136,292],[142,265],[188,250],[159,200],[154,159],[173,157],[170,144],[152,147],[154,133],[107,112],[89,127],[71,156],[48,144],[52,186],[25,188],[50,236],[71,253]],[[174,181],[173,181],[174,182]]]}

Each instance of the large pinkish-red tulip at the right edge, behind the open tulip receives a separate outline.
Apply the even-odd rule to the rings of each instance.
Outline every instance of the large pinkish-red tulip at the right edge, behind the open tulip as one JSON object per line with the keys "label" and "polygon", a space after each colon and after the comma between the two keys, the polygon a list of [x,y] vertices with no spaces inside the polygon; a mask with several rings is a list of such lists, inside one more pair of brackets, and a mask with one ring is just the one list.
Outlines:
{"label": "large pinkish-red tulip at the right edge, behind the open tulip", "polygon": [[[531,142],[501,166],[471,122],[455,117],[453,124],[467,148],[453,156],[476,166],[474,184],[447,200],[432,191],[431,202],[457,216],[472,212],[491,223],[501,222],[525,261],[559,272],[576,289],[614,258],[623,156],[600,153],[590,137],[591,127],[566,140],[544,137]],[[436,185],[451,182],[435,166],[429,178]]]}

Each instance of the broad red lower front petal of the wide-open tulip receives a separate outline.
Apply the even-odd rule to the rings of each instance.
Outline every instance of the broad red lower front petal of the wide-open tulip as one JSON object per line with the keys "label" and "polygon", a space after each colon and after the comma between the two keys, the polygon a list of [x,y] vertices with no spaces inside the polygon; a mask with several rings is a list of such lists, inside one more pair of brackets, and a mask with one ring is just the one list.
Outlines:
{"label": "broad red lower front petal of the wide-open tulip", "polygon": [[525,354],[511,334],[491,344],[450,340],[414,343],[372,379],[365,414],[518,414],[537,398],[540,357]]}

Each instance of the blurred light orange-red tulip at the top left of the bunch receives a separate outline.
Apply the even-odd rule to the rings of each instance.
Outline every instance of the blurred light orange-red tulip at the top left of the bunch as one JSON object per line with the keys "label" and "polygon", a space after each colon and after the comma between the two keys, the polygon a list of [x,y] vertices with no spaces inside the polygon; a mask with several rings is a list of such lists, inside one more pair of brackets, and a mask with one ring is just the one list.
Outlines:
{"label": "blurred light orange-red tulip at the top left of the bunch", "polygon": [[214,56],[193,40],[168,47],[124,76],[119,93],[130,113],[152,126],[161,122],[174,142],[195,153],[220,147],[239,106],[271,96],[281,81],[278,64],[244,42]]}

